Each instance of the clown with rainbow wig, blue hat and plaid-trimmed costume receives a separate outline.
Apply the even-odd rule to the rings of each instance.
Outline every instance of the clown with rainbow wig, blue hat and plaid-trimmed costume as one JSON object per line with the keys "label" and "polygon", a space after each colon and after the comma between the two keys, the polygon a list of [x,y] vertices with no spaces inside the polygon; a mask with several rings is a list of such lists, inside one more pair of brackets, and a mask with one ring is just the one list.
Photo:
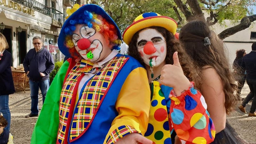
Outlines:
{"label": "clown with rainbow wig, blue hat and plaid-trimmed costume", "polygon": [[63,63],[46,94],[32,144],[125,144],[152,141],[147,130],[146,70],[117,52],[121,33],[99,6],[74,5],[58,38]]}

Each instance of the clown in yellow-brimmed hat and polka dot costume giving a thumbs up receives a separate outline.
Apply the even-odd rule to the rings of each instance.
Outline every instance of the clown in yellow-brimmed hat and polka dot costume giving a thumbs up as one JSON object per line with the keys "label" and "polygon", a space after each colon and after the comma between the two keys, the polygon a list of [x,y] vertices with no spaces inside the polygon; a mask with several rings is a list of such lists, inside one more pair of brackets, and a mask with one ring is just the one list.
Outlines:
{"label": "clown in yellow-brimmed hat and polka dot costume giving a thumbs up", "polygon": [[[190,82],[197,74],[175,38],[176,29],[172,18],[149,12],[139,15],[123,34],[128,55],[145,67],[150,83],[149,124],[144,136],[157,144],[210,143],[214,125],[204,97]],[[174,130],[180,141],[174,141]]]}

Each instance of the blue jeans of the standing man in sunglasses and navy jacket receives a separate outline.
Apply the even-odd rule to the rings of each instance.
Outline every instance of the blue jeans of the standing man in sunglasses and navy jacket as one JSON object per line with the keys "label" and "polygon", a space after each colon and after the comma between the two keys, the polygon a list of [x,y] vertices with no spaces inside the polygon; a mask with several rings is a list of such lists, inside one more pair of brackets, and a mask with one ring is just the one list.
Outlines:
{"label": "blue jeans of the standing man in sunglasses and navy jacket", "polygon": [[39,88],[43,95],[43,104],[45,101],[46,93],[49,89],[49,79],[45,81],[32,81],[29,80],[30,97],[31,97],[31,113],[38,115],[38,91]]}

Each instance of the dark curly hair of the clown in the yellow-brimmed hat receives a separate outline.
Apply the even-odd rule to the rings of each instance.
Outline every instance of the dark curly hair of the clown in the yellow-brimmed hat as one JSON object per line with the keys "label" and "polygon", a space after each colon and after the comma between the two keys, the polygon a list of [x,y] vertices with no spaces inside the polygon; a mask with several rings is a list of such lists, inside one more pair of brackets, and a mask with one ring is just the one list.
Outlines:
{"label": "dark curly hair of the clown in the yellow-brimmed hat", "polygon": [[[173,64],[173,54],[175,51],[178,51],[178,57],[180,61],[180,65],[183,69],[184,75],[190,80],[193,81],[193,78],[196,77],[196,70],[193,67],[191,58],[186,54],[182,44],[174,38],[174,35],[169,32],[167,29],[163,27],[147,27],[147,29],[155,29],[157,32],[161,33],[163,37],[166,38],[167,45],[167,55],[165,57],[166,64]],[[143,30],[143,29],[142,29]],[[129,43],[128,55],[136,58],[143,66],[143,59],[141,58],[138,49],[137,49],[137,39],[139,37],[139,33],[142,31],[138,31],[135,33]]]}

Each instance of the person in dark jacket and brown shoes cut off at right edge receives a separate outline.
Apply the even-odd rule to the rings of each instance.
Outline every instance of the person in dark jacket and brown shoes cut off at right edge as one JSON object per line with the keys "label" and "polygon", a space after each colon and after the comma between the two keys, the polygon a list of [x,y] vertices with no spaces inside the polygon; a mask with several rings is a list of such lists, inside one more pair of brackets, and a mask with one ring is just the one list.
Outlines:
{"label": "person in dark jacket and brown shoes cut off at right edge", "polygon": [[244,109],[246,104],[253,98],[251,110],[248,116],[256,117],[256,42],[254,42],[252,45],[252,51],[244,56],[241,66],[246,69],[246,82],[250,88],[250,93],[243,100],[242,104],[239,106],[239,109]]}

